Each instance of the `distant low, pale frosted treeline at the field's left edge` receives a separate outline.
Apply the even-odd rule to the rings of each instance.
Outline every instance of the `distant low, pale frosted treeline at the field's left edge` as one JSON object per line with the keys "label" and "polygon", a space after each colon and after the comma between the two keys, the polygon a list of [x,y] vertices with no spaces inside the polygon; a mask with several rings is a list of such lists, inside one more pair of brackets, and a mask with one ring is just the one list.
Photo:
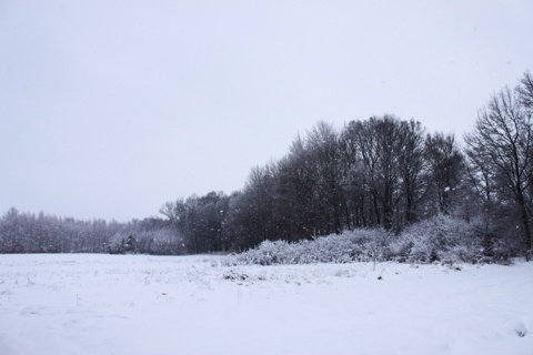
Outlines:
{"label": "distant low, pale frosted treeline at the field's left edge", "polygon": [[9,210],[0,219],[0,253],[183,254],[183,241],[162,219],[78,221]]}

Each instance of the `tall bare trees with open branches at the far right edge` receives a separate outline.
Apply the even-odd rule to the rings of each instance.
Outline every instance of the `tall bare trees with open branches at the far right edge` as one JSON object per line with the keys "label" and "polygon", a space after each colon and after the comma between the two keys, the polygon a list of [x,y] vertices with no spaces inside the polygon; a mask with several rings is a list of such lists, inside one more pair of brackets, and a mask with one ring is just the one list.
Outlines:
{"label": "tall bare trees with open branches at the far right edge", "polygon": [[474,193],[484,245],[517,234],[531,254],[533,213],[533,75],[495,93],[464,136],[466,180]]}

